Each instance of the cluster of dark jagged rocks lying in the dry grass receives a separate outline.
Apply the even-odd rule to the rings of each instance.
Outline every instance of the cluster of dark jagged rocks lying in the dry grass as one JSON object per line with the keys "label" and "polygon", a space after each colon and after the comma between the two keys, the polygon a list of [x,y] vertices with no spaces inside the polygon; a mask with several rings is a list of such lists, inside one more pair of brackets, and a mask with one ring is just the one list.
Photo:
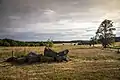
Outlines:
{"label": "cluster of dark jagged rocks lying in the dry grass", "polygon": [[17,58],[17,57],[10,57],[6,60],[6,62],[16,62],[16,63],[35,63],[35,62],[62,62],[68,61],[68,54],[69,50],[63,50],[59,53],[53,51],[50,48],[44,49],[43,54],[37,54],[35,52],[30,52],[26,56]]}

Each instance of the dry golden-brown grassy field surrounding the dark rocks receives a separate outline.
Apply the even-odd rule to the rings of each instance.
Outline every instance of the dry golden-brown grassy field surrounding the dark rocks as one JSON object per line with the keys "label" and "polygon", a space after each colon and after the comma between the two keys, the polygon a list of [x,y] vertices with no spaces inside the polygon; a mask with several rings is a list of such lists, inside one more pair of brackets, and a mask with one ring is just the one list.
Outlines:
{"label": "dry golden-brown grassy field surrounding the dark rocks", "polygon": [[30,51],[43,54],[44,47],[0,47],[0,80],[120,80],[120,54],[100,47],[55,45],[59,52],[69,49],[71,61],[12,65],[2,62]]}

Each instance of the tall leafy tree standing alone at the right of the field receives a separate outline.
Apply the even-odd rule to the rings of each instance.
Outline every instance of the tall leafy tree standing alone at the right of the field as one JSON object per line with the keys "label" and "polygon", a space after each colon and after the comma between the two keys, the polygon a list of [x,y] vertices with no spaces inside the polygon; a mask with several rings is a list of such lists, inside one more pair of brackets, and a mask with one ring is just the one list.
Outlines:
{"label": "tall leafy tree standing alone at the right of the field", "polygon": [[115,34],[113,31],[116,30],[113,26],[112,20],[105,19],[99,26],[96,37],[100,39],[102,46],[106,48],[107,46],[111,45],[115,40]]}

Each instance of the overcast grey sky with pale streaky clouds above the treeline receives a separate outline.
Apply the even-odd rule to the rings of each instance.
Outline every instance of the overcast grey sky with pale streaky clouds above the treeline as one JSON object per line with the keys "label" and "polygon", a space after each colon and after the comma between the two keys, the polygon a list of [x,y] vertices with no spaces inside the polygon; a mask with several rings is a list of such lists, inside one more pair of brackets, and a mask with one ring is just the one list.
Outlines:
{"label": "overcast grey sky with pale streaky clouds above the treeline", "polygon": [[89,40],[104,19],[120,36],[120,0],[1,0],[0,38]]}

